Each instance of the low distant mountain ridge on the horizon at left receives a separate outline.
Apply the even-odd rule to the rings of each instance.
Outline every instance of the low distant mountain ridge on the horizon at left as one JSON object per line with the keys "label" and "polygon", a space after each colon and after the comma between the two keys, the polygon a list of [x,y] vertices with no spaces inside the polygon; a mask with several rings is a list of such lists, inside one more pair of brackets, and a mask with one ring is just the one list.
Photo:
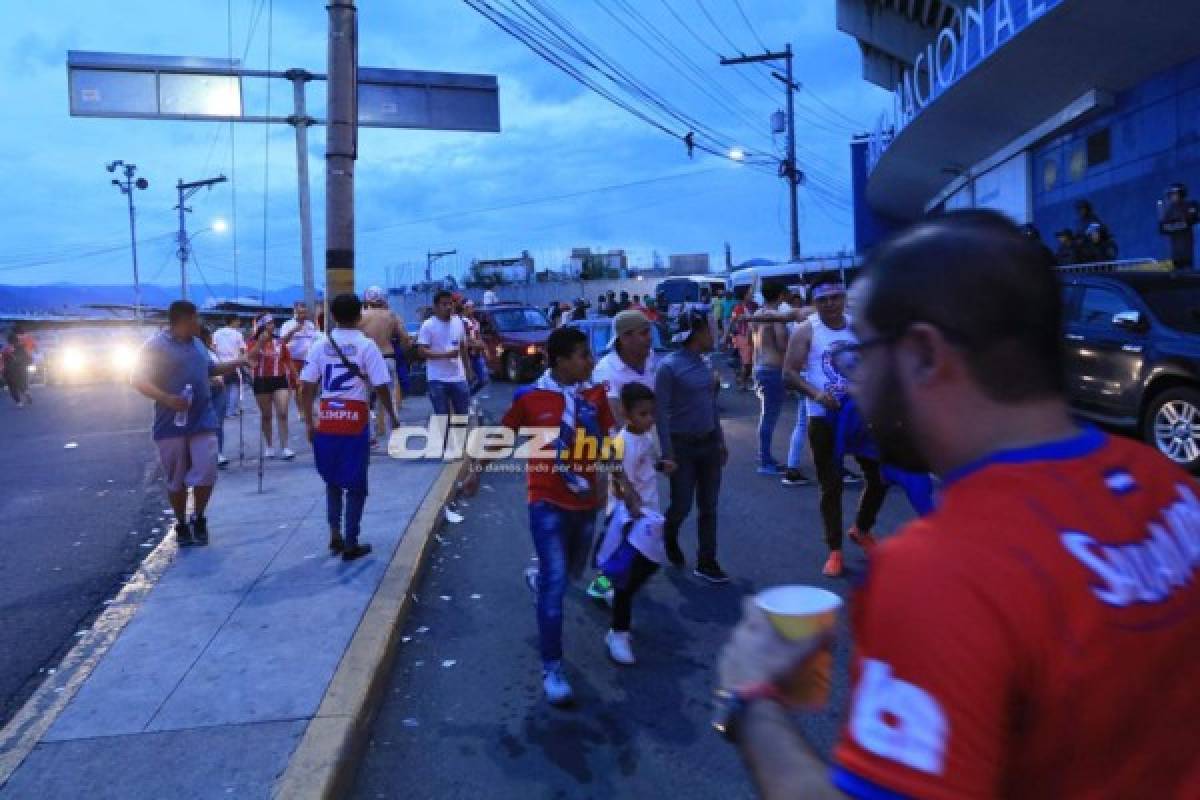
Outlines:
{"label": "low distant mountain ridge on the horizon at left", "polygon": [[[232,283],[212,284],[212,294],[217,300],[233,300],[240,296],[246,302],[258,302],[258,291],[240,287],[235,294]],[[202,306],[212,302],[209,288],[190,287],[191,300]],[[302,287],[284,287],[268,289],[269,305],[286,305],[304,296]],[[151,307],[166,307],[179,299],[179,289],[161,285],[143,285],[142,303]],[[36,287],[0,285],[0,312],[72,312],[90,305],[133,303],[133,285],[79,285],[74,283],[48,283]]]}

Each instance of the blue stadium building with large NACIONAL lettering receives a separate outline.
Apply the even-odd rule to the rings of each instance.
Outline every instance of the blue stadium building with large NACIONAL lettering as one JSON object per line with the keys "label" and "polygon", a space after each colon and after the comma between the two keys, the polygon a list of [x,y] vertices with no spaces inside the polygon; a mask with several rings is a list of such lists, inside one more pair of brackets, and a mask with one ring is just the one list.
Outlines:
{"label": "blue stadium building with large NACIONAL lettering", "polygon": [[1200,0],[838,0],[893,92],[852,146],[858,251],[972,206],[1054,248],[1088,200],[1121,259],[1169,258],[1158,204],[1200,196],[1198,23]]}

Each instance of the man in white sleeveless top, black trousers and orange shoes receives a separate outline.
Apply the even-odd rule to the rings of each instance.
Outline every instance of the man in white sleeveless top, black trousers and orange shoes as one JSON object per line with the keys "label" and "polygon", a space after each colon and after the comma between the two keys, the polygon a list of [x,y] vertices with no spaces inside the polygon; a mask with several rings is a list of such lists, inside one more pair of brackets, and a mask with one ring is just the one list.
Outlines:
{"label": "man in white sleeveless top, black trousers and orange shoes", "polygon": [[[839,369],[839,354],[853,349],[858,338],[850,329],[846,314],[846,287],[828,278],[812,288],[817,313],[802,323],[787,343],[784,356],[784,383],[804,395],[804,410],[809,417],[809,447],[821,489],[821,522],[824,527],[829,557],[822,573],[840,577],[842,559],[841,494],[845,480],[838,458],[838,413],[848,391],[846,375]],[[848,536],[865,552],[875,547],[871,528],[878,517],[887,487],[880,475],[880,464],[856,456],[863,469],[863,493]]]}

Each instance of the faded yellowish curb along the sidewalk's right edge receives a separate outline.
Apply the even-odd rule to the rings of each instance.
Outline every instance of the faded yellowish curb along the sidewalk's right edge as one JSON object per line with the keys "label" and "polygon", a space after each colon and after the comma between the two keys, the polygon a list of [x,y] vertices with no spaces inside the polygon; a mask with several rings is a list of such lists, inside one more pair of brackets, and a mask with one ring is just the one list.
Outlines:
{"label": "faded yellowish curb along the sidewalk's right edge", "polygon": [[421,501],[272,796],[329,800],[349,795],[386,691],[400,631],[412,607],[412,588],[425,569],[442,510],[466,468],[467,462],[446,464]]}

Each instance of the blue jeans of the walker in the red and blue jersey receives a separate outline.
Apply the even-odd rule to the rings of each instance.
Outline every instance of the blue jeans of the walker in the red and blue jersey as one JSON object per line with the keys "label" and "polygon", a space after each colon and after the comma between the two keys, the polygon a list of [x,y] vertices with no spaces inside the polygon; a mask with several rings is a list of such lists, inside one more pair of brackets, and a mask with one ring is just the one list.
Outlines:
{"label": "blue jeans of the walker in the red and blue jersey", "polygon": [[563,658],[563,597],[571,576],[582,575],[595,534],[595,511],[568,511],[551,503],[529,505],[529,533],[538,551],[538,640],[544,666]]}

